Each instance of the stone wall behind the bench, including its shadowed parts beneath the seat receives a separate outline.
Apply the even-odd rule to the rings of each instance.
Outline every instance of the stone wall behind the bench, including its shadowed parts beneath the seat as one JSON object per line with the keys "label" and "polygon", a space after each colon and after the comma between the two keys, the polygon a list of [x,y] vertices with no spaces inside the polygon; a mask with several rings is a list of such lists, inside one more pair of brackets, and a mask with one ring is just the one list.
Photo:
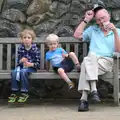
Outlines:
{"label": "stone wall behind the bench, including its shadowed parts beneath the seat", "polygon": [[[0,37],[18,37],[25,28],[32,28],[37,36],[55,33],[72,36],[86,10],[99,0],[0,0]],[[120,27],[120,0],[103,0],[111,14],[111,21]],[[37,97],[76,98],[76,88],[68,92],[62,80],[32,81],[31,94]],[[39,83],[39,84],[38,84]],[[0,96],[8,96],[9,83],[0,82]]]}

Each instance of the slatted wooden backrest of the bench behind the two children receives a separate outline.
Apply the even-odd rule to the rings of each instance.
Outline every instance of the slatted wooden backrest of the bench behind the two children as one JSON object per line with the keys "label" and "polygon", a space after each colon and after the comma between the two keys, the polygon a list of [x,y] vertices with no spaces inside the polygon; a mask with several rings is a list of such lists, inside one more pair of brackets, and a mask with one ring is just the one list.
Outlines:
{"label": "slatted wooden backrest of the bench behind the two children", "polygon": [[[45,53],[48,50],[45,45],[45,38],[36,38],[34,41],[41,51],[41,66],[40,69],[45,69]],[[11,70],[16,65],[17,49],[20,44],[19,38],[0,38],[0,71]],[[60,46],[67,52],[73,51],[79,57],[82,50],[83,56],[87,53],[87,44],[80,42],[74,37],[60,37]]]}

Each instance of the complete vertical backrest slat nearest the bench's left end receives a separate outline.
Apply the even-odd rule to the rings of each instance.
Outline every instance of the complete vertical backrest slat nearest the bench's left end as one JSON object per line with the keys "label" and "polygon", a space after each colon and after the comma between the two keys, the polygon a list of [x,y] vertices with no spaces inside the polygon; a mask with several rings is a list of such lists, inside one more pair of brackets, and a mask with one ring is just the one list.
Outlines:
{"label": "complete vertical backrest slat nearest the bench's left end", "polygon": [[7,45],[7,70],[11,69],[11,44]]}

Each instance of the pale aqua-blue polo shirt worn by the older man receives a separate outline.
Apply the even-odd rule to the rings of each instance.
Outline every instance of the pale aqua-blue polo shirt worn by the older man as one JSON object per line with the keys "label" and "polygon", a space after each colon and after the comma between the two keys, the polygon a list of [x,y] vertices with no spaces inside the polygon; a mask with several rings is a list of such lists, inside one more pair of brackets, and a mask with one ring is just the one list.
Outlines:
{"label": "pale aqua-blue polo shirt worn by the older man", "polygon": [[[120,29],[118,34],[120,35]],[[112,57],[115,51],[114,33],[110,31],[106,36],[97,26],[90,26],[83,32],[83,41],[89,40],[89,52],[96,53],[97,56]]]}

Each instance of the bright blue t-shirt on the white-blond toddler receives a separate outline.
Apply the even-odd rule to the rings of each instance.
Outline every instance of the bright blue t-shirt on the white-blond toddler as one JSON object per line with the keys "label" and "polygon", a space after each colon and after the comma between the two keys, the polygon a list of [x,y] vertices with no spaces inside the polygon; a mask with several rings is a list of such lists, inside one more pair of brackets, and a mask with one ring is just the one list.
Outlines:
{"label": "bright blue t-shirt on the white-blond toddler", "polygon": [[62,48],[56,48],[54,51],[48,51],[46,53],[46,60],[50,61],[53,67],[60,67],[60,63],[63,61],[62,54],[67,52]]}

